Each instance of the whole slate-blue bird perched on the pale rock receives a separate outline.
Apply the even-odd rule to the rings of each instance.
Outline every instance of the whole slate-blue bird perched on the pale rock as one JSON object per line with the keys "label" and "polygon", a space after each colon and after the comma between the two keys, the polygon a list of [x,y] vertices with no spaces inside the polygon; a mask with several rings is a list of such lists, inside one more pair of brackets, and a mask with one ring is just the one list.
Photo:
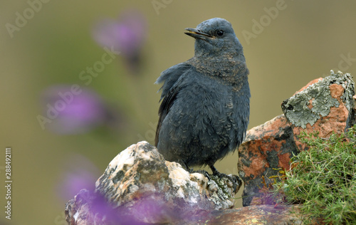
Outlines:
{"label": "whole slate-blue bird perched on the pale rock", "polygon": [[[244,140],[250,115],[248,68],[243,47],[226,19],[186,28],[194,57],[164,70],[155,146],[164,159],[187,169],[214,164]],[[191,170],[192,171],[192,170]]]}

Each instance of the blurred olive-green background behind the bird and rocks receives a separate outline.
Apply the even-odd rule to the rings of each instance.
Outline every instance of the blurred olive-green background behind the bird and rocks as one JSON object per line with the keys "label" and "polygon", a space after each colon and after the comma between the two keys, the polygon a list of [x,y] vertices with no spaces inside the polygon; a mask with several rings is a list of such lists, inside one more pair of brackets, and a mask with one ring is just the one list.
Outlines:
{"label": "blurred olive-green background behind the bird and rocks", "polygon": [[[154,143],[155,80],[194,54],[184,28],[232,23],[250,70],[251,128],[330,69],[356,74],[355,9],[325,0],[1,1],[0,176],[11,147],[13,187],[12,219],[1,211],[0,224],[66,224],[66,202],[93,188],[118,152]],[[71,99],[73,87],[81,93]],[[51,107],[60,109],[53,119]],[[229,155],[217,168],[237,174],[236,162]]]}

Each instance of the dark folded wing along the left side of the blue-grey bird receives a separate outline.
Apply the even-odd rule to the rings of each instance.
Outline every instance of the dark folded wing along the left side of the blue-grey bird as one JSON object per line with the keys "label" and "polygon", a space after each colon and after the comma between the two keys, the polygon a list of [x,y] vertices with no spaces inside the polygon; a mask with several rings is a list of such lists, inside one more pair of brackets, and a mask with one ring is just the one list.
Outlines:
{"label": "dark folded wing along the left side of the blue-grey bird", "polygon": [[177,83],[179,83],[179,78],[181,78],[182,74],[186,73],[190,68],[192,68],[192,66],[187,63],[179,63],[171,68],[168,68],[167,70],[164,70],[156,81],[156,83],[164,83],[162,88],[159,89],[162,90],[161,99],[159,100],[162,100],[162,103],[158,110],[159,120],[155,137],[156,146],[158,145],[159,130],[161,129],[164,117],[166,117],[169,109],[174,103],[177,93],[179,93],[180,88],[179,85],[177,85]]}

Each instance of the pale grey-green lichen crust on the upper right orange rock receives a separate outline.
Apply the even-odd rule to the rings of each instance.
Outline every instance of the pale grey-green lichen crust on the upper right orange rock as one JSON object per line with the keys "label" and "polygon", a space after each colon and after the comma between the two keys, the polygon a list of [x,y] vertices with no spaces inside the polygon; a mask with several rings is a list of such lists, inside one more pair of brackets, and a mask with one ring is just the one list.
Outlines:
{"label": "pale grey-green lichen crust on the upper right orange rock", "polygon": [[350,73],[343,75],[340,71],[334,73],[331,70],[330,72],[328,77],[309,85],[305,90],[283,101],[282,110],[289,122],[296,127],[305,128],[308,123],[314,125],[320,117],[329,115],[330,108],[339,107],[340,103],[330,93],[332,84],[342,85],[345,91],[341,100],[345,103],[347,110],[352,109],[355,83]]}

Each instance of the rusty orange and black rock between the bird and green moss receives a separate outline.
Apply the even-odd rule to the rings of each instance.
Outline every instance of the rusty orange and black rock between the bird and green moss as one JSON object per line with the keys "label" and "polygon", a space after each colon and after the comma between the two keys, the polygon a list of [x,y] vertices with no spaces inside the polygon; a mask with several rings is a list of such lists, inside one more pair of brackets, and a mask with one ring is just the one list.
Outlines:
{"label": "rusty orange and black rock between the bird and green moss", "polygon": [[[239,147],[239,176],[245,182],[243,204],[248,206],[263,187],[263,178],[278,175],[278,168],[289,168],[298,153],[293,130],[284,115],[248,130]],[[267,181],[268,182],[268,181]]]}

